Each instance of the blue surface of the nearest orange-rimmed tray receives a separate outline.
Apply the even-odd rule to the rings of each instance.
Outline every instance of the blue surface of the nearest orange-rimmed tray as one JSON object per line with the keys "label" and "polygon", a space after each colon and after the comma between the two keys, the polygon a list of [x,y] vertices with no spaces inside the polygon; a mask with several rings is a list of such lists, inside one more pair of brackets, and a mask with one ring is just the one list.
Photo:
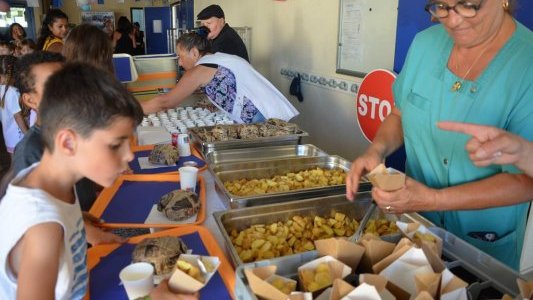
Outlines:
{"label": "blue surface of the nearest orange-rimmed tray", "polygon": [[[198,232],[180,237],[193,254],[209,255]],[[119,285],[120,270],[131,263],[131,254],[135,245],[124,244],[103,257],[98,265],[89,272],[89,289],[91,299],[128,299],[126,290]],[[200,290],[200,299],[230,299],[230,294],[217,272],[208,284]]]}

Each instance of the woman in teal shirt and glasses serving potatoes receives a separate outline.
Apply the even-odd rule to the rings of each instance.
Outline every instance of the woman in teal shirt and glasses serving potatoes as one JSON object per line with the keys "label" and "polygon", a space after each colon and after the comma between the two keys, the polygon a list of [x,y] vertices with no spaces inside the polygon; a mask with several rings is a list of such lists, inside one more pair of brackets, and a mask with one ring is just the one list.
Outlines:
{"label": "woman in teal shirt and glasses serving potatoes", "polygon": [[469,137],[448,120],[490,125],[533,140],[533,33],[511,0],[430,1],[440,24],[419,33],[394,83],[396,107],[347,178],[359,178],[405,144],[404,188],[372,196],[389,213],[411,211],[518,268],[533,179],[511,165],[476,167]]}

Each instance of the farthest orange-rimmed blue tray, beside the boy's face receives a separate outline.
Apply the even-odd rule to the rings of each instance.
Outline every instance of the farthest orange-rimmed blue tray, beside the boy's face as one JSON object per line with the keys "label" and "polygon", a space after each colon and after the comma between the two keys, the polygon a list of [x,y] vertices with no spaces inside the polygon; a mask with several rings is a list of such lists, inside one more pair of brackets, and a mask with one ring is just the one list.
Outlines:
{"label": "farthest orange-rimmed blue tray, beside the boy's face", "polygon": [[150,152],[154,149],[155,145],[136,146],[132,149],[134,158],[128,163],[129,168],[133,174],[166,174],[166,173],[178,173],[178,169],[185,166],[187,162],[192,161],[196,163],[198,171],[203,171],[207,168],[207,163],[202,159],[202,155],[198,150],[191,147],[190,156],[180,156],[175,166],[161,166],[154,169],[141,169],[138,159],[140,157],[150,156]]}

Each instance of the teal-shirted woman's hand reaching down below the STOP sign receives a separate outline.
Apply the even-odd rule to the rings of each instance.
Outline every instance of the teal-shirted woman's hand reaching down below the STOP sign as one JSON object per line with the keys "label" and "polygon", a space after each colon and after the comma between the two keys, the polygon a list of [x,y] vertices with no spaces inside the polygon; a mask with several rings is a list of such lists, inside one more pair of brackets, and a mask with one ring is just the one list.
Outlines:
{"label": "teal-shirted woman's hand reaching down below the STOP sign", "polygon": [[370,146],[363,155],[352,162],[350,172],[346,176],[346,198],[348,200],[353,201],[355,199],[361,177],[372,171],[382,162],[383,155],[373,146]]}

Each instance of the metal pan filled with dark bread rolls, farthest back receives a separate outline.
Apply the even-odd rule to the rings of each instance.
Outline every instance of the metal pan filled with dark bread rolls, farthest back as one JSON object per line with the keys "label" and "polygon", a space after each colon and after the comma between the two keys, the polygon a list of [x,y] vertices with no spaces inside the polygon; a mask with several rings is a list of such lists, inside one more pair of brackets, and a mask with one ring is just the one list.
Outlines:
{"label": "metal pan filled with dark bread rolls, farthest back", "polygon": [[[237,126],[237,125],[224,125],[224,126]],[[229,141],[216,141],[207,142],[200,138],[198,131],[202,129],[211,130],[215,126],[205,126],[190,128],[189,135],[193,144],[197,145],[204,156],[211,152],[224,149],[240,149],[251,147],[264,147],[264,146],[280,146],[280,145],[297,145],[301,143],[301,139],[309,134],[303,130],[299,130],[296,134],[272,136],[272,137],[258,137],[253,140],[229,140]]]}

